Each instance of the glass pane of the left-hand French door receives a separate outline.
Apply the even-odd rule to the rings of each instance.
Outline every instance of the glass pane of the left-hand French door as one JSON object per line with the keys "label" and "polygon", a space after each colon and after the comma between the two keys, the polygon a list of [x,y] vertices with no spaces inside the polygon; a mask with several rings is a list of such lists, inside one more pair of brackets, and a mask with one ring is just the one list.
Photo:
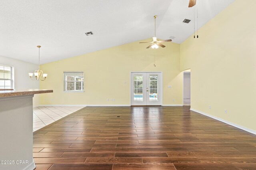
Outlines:
{"label": "glass pane of the left-hand French door", "polygon": [[134,75],[133,80],[134,101],[143,101],[143,76]]}

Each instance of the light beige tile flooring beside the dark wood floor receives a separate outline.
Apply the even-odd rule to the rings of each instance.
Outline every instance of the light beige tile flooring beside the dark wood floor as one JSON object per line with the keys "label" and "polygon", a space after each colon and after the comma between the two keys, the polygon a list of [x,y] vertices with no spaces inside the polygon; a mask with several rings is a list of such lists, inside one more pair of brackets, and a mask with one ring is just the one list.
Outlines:
{"label": "light beige tile flooring beside the dark wood floor", "polygon": [[83,106],[40,106],[33,108],[33,132],[82,109]]}

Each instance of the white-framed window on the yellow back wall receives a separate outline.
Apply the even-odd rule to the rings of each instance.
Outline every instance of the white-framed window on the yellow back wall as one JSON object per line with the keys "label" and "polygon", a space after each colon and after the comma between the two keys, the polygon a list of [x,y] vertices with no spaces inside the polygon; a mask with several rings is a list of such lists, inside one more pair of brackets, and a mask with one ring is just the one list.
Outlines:
{"label": "white-framed window on the yellow back wall", "polygon": [[84,91],[84,72],[64,71],[64,91]]}

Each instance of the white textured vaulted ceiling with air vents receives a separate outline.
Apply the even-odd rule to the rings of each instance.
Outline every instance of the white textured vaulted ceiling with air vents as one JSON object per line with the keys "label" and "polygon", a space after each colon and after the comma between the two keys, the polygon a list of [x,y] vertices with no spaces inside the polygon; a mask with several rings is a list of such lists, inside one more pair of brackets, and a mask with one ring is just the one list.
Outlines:
{"label": "white textured vaulted ceiling with air vents", "polygon": [[[198,28],[233,1],[197,0]],[[182,43],[194,32],[194,8],[188,2],[0,0],[0,56],[38,63],[36,46],[41,45],[40,63],[48,63],[144,40],[154,36],[154,15],[156,37]],[[191,22],[183,23],[185,18]],[[86,36],[90,31],[94,35]]]}

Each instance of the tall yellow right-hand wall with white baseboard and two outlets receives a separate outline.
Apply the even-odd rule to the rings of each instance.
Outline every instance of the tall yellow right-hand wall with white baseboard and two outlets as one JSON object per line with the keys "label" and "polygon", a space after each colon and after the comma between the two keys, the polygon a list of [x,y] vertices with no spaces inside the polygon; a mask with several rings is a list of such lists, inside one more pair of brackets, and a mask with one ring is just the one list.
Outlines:
{"label": "tall yellow right-hand wall with white baseboard and two outlets", "polygon": [[251,130],[256,130],[255,9],[256,0],[236,0],[199,30],[198,39],[191,36],[180,45],[180,69],[191,69],[191,108]]}

